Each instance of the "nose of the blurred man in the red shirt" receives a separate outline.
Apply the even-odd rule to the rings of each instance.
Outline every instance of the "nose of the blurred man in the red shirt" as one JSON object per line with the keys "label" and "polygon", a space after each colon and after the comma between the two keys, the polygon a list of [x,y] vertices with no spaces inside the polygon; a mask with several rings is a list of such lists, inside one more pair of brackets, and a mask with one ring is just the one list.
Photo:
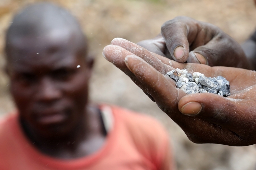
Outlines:
{"label": "nose of the blurred man in the red shirt", "polygon": [[51,102],[61,97],[61,90],[50,78],[42,78],[36,91],[37,99],[43,102]]}

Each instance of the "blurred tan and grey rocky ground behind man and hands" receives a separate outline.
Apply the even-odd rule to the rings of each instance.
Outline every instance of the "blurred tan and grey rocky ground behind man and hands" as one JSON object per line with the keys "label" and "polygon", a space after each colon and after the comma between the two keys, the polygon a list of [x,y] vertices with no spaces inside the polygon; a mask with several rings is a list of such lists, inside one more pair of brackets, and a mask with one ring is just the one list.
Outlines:
{"label": "blurred tan and grey rocky ground behind man and hands", "polygon": [[[40,0],[0,0],[0,116],[15,109],[4,74],[4,37],[12,17],[24,6]],[[253,0],[52,0],[81,23],[96,57],[91,79],[91,100],[115,104],[158,119],[168,130],[178,170],[255,170],[256,147],[194,144],[185,133],[122,71],[102,56],[111,40],[150,39],[161,25],[184,15],[219,26],[239,43],[256,28]]]}

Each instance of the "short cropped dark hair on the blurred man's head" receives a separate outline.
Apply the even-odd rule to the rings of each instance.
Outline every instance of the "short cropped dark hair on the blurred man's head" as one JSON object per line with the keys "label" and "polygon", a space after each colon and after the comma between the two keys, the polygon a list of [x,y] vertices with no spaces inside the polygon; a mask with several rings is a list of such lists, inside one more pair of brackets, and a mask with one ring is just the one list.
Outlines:
{"label": "short cropped dark hair on the blurred man's head", "polygon": [[87,39],[78,21],[67,10],[51,4],[37,3],[21,10],[12,20],[5,40],[5,52],[9,61],[9,51],[12,50],[13,41],[26,36],[40,37],[48,31],[58,28],[67,28],[79,34],[84,42],[87,55]]}

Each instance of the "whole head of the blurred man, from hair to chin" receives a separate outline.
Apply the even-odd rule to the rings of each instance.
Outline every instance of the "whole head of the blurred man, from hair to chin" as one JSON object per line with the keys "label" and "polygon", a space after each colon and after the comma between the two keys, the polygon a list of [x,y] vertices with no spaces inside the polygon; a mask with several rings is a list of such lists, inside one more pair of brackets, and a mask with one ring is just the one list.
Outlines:
{"label": "whole head of the blurred man, from hair to chin", "polygon": [[84,117],[92,67],[76,19],[52,4],[28,6],[13,19],[5,51],[20,118],[46,136],[75,128]]}

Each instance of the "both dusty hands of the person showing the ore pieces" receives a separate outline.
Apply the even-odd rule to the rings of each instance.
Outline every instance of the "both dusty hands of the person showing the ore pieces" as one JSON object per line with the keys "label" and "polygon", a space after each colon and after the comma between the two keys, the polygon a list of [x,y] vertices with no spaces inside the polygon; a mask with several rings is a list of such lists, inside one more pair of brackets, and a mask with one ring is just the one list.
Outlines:
{"label": "both dusty hands of the person showing the ore pieces", "polygon": [[[216,26],[177,17],[165,22],[155,39],[138,44],[116,38],[103,54],[155,101],[192,142],[256,144],[256,72],[245,70],[252,69],[253,64],[236,41]],[[230,82],[231,95],[186,95],[165,76],[176,68],[201,72],[207,77],[223,76]]]}

